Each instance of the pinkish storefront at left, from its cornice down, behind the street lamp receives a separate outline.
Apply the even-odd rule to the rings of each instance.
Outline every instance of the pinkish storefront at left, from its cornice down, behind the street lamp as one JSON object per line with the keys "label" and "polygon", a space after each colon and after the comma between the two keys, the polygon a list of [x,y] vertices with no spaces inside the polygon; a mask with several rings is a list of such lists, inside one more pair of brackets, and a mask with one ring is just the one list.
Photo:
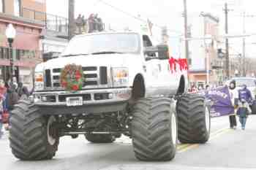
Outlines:
{"label": "pinkish storefront at left, from its cornice down, behind the street lamp", "polygon": [[12,44],[14,60],[14,81],[23,82],[29,88],[33,85],[34,67],[42,62],[39,38],[43,23],[7,15],[0,15],[0,78],[10,80],[10,48],[5,30],[12,23],[16,36]]}

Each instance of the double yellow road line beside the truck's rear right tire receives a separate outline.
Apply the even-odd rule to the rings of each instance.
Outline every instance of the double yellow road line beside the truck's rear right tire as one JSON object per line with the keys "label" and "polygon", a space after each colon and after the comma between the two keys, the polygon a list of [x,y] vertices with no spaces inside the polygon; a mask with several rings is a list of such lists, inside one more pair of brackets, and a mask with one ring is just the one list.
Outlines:
{"label": "double yellow road line beside the truck's rear right tire", "polygon": [[[213,139],[216,139],[218,136],[225,134],[229,131],[232,131],[232,129],[222,128],[222,129],[219,129],[218,131],[214,131],[213,133],[211,133],[210,139],[208,140],[208,142]],[[200,146],[200,144],[178,144],[177,152],[178,153],[186,152],[187,150],[191,150],[191,149],[193,149],[195,147],[199,147],[199,146]]]}

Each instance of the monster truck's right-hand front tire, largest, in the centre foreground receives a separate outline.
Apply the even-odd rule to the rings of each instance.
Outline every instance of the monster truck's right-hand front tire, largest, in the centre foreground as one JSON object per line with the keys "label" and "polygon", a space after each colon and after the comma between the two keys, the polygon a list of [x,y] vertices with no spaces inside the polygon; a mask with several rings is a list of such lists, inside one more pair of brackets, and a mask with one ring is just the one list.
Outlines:
{"label": "monster truck's right-hand front tire, largest, in the centre foreground", "polygon": [[[173,108],[173,109],[172,109]],[[140,161],[170,161],[176,155],[176,110],[170,98],[141,98],[132,112],[132,144]]]}

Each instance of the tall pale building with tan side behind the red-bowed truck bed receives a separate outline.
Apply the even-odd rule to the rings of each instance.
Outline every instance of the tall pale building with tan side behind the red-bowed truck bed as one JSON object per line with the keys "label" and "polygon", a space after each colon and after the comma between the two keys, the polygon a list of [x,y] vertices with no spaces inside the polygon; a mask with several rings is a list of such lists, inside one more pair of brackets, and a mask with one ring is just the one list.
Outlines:
{"label": "tall pale building with tan side behind the red-bowed truck bed", "polygon": [[[190,18],[189,18],[190,20]],[[189,26],[189,80],[191,84],[206,85],[207,64],[209,68],[209,84],[219,85],[223,82],[223,62],[218,58],[219,18],[209,13],[201,13],[200,17],[191,18]],[[212,41],[206,44],[201,39],[210,34]],[[195,38],[195,39],[193,39]],[[208,42],[207,42],[208,43]],[[184,50],[182,50],[184,51]]]}

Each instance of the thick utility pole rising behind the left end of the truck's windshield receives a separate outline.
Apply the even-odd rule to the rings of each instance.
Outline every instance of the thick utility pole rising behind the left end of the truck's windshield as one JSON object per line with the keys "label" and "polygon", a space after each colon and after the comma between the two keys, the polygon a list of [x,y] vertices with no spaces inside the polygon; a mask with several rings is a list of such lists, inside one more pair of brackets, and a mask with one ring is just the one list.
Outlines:
{"label": "thick utility pole rising behind the left end of the truck's windshield", "polygon": [[68,36],[69,40],[72,39],[72,37],[75,34],[75,0],[69,0],[69,30],[68,30]]}

